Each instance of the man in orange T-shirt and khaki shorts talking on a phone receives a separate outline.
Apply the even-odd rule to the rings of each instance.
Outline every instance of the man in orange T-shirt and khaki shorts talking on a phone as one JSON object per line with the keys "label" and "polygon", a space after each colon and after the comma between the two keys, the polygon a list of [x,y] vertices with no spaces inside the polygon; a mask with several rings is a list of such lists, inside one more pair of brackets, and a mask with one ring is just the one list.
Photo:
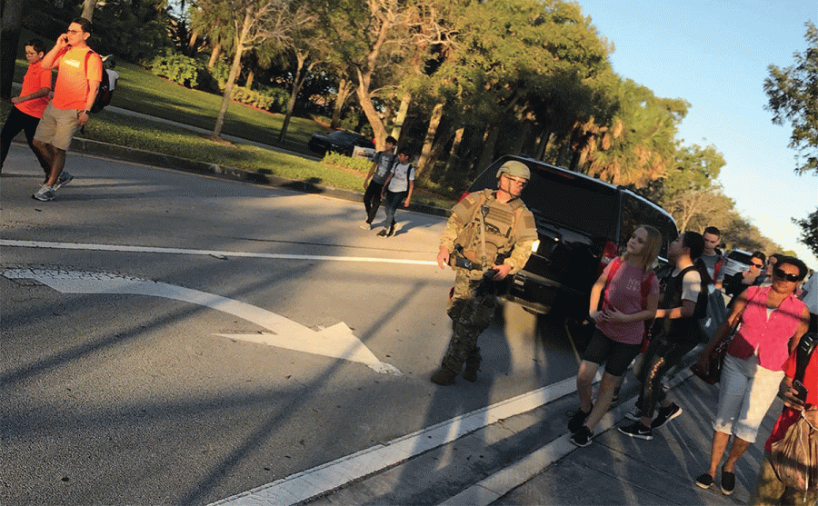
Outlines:
{"label": "man in orange T-shirt and khaki shorts talking on a phone", "polygon": [[57,68],[54,98],[37,126],[34,145],[51,167],[45,184],[32,195],[40,201],[54,200],[55,191],[74,177],[63,172],[65,152],[77,129],[88,122],[88,114],[102,81],[102,59],[85,44],[91,22],[78,17],[43,58],[43,68]]}

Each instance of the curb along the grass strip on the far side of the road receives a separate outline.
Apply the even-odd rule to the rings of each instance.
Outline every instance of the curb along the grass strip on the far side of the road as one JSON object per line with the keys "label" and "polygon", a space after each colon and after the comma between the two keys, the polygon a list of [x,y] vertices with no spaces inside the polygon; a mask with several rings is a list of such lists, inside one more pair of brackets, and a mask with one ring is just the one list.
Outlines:
{"label": "curb along the grass strip on the far side of the road", "polygon": [[[105,156],[115,160],[155,165],[157,167],[174,169],[187,173],[212,175],[233,181],[242,181],[244,183],[264,184],[275,188],[293,190],[294,192],[321,194],[351,202],[362,202],[364,198],[363,193],[353,192],[351,190],[342,190],[332,186],[324,186],[323,184],[314,184],[295,179],[287,179],[285,177],[280,177],[273,174],[264,174],[264,169],[262,169],[262,172],[248,171],[245,169],[231,167],[229,165],[197,162],[195,160],[179,158],[167,154],[154,153],[151,151],[135,149],[117,144],[102,143],[99,141],[92,141],[90,139],[78,137],[75,137],[71,141],[69,150],[81,154]],[[416,213],[431,214],[434,216],[448,216],[451,214],[451,210],[449,209],[440,209],[438,207],[419,203],[410,203],[408,210]]]}

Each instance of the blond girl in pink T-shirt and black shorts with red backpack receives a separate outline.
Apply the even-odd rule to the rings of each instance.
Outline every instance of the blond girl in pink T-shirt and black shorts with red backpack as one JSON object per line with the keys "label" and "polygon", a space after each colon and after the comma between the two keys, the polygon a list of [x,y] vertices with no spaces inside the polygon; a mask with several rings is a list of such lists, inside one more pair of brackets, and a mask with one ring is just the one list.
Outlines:
{"label": "blond girl in pink T-shirt and black shorts with red backpack", "polygon": [[[580,409],[568,422],[571,442],[577,446],[591,444],[594,427],[608,411],[614,390],[642,347],[645,322],[653,319],[659,307],[653,263],[661,247],[662,234],[650,225],[641,225],[633,231],[627,251],[608,263],[591,290],[589,313],[596,331],[576,375]],[[605,372],[592,404],[592,383],[603,363]]]}

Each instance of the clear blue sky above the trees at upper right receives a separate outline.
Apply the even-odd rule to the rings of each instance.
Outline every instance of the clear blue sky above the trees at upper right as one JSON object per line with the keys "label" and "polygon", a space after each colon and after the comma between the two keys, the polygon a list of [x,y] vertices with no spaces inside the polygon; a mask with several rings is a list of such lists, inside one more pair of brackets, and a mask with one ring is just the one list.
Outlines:
{"label": "clear blue sky above the trees at upper right", "polygon": [[[818,270],[798,242],[818,207],[818,176],[797,175],[792,125],[764,110],[767,67],[795,63],[816,0],[576,0],[599,35],[615,45],[613,70],[663,98],[690,103],[683,144],[713,144],[724,156],[719,181],[736,210],[784,250]],[[773,252],[766,252],[773,253]]]}

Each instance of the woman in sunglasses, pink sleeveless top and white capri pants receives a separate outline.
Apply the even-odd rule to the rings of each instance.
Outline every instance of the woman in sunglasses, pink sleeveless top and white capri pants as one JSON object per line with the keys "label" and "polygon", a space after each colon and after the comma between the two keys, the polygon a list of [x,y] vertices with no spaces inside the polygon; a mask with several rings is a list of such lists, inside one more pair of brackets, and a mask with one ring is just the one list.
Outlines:
{"label": "woman in sunglasses, pink sleeveless top and white capri pants", "polygon": [[706,368],[710,353],[741,321],[727,344],[719,387],[719,408],[713,421],[710,469],[696,478],[703,489],[713,485],[730,436],[733,446],[722,466],[721,488],[729,495],[735,488],[735,462],[755,442],[758,427],[778,393],[783,363],[807,331],[810,313],[795,296],[807,273],[806,265],[792,256],[775,263],[771,286],[751,286],[737,298],[733,312],[713,335],[699,358]]}

